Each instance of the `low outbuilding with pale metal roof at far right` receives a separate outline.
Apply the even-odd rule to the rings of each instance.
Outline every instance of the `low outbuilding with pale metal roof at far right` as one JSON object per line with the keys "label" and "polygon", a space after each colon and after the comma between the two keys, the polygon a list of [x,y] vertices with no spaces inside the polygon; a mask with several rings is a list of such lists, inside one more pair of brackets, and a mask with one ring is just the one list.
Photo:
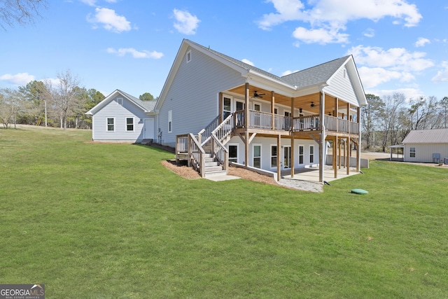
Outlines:
{"label": "low outbuilding with pale metal roof at far right", "polygon": [[402,141],[405,162],[441,162],[448,158],[448,129],[414,130]]}

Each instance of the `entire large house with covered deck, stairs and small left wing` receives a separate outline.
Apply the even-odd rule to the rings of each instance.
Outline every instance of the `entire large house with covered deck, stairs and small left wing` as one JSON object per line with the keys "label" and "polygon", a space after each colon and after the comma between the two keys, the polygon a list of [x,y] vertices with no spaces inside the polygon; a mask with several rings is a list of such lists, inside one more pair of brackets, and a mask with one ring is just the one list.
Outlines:
{"label": "entire large house with covered deck, stairs and small left wing", "polygon": [[[153,111],[119,90],[103,102],[89,111],[94,140],[156,137],[176,147],[176,159],[187,160],[202,176],[226,172],[233,162],[273,172],[276,179],[318,166],[320,181],[325,144],[332,141],[337,177],[338,153],[340,159],[349,145],[360,144],[360,107],[367,104],[351,55],[279,77],[187,39]],[[134,118],[135,134],[127,132],[127,118]],[[152,134],[142,132],[152,125]]]}

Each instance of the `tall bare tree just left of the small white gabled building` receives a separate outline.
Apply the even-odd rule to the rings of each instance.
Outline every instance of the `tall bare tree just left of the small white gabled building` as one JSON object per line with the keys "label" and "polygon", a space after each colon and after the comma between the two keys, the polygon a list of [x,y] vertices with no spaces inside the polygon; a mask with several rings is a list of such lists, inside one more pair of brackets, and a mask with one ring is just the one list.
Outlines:
{"label": "tall bare tree just left of the small white gabled building", "polygon": [[57,83],[52,84],[50,80],[45,81],[46,98],[52,108],[58,113],[61,127],[66,130],[67,118],[76,114],[83,105],[79,94],[79,81],[71,71],[66,70],[57,74]]}

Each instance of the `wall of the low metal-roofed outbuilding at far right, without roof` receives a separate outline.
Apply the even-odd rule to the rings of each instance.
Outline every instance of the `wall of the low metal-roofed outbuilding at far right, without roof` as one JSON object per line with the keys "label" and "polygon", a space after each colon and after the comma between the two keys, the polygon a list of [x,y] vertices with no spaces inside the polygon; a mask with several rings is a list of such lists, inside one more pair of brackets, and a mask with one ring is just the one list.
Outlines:
{"label": "wall of the low metal-roofed outbuilding at far right, without roof", "polygon": [[[415,158],[409,155],[410,148],[415,148]],[[440,153],[440,160],[448,158],[448,144],[405,144],[403,158],[405,162],[433,163],[433,153]]]}

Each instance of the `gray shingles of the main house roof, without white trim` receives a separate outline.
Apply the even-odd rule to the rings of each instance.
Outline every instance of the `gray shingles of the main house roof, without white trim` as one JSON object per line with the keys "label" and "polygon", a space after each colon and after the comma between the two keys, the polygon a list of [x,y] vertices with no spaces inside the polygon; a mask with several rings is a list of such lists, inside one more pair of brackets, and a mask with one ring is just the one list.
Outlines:
{"label": "gray shingles of the main house roof, without white trim", "polygon": [[239,67],[242,67],[246,70],[252,70],[257,72],[258,74],[261,74],[263,76],[267,76],[269,78],[273,78],[277,81],[286,83],[291,86],[297,86],[297,88],[304,88],[306,86],[316,85],[319,83],[325,83],[328,81],[328,79],[335,74],[335,71],[339,69],[339,67],[346,62],[347,59],[351,55],[344,56],[341,58],[338,58],[336,60],[332,60],[330,62],[325,62],[323,64],[319,64],[315,67],[310,67],[309,69],[304,69],[302,71],[297,71],[293,74],[289,74],[287,76],[279,77],[274,74],[269,73],[268,71],[264,71],[262,69],[258,69],[258,67],[253,67],[250,64],[246,64],[244,62],[241,62],[240,60],[236,60],[235,58],[232,58],[228,55],[225,55],[223,53],[219,53],[218,51],[212,50],[210,48],[206,48],[204,46],[201,46],[198,43],[195,43],[193,41],[188,40],[188,42],[193,43],[195,46],[198,46],[204,50],[207,50],[211,53],[214,53],[215,55],[218,55],[219,57],[228,60],[229,62],[232,62],[233,64],[236,64]]}

